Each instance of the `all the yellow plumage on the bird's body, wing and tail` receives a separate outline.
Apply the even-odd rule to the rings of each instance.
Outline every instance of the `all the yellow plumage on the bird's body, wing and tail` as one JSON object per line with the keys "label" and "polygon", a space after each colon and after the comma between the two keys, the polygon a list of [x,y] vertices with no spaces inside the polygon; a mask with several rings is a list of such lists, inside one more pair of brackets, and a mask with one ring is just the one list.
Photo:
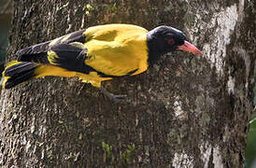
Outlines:
{"label": "all the yellow plumage on the bird's body, wing and tail", "polygon": [[[148,68],[148,31],[142,27],[131,24],[94,26],[81,32],[80,35],[85,38],[84,42],[72,41],[75,33],[58,37],[47,44],[46,53],[49,63],[38,63],[33,78],[45,76],[79,77],[83,82],[89,82],[94,87],[100,87],[104,80],[126,75],[133,76],[146,71]],[[60,50],[51,48],[66,43],[78,49],[86,49],[84,65],[92,67],[92,70],[87,73],[78,72],[76,69],[66,69],[61,66],[61,63],[58,63],[58,59],[63,59],[62,54]],[[74,55],[74,60],[76,57]],[[129,74],[130,72],[134,73]],[[8,77],[4,77],[6,78],[3,84],[5,87]]]}

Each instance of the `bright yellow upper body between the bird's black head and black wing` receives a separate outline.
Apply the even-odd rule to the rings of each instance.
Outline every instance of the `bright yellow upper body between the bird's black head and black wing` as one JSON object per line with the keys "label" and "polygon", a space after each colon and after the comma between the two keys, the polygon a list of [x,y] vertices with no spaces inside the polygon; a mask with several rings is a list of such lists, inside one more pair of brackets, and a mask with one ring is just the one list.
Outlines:
{"label": "bright yellow upper body between the bird's black head and black wing", "polygon": [[135,74],[142,73],[148,68],[147,33],[127,24],[89,28],[84,35],[90,39],[85,43],[90,59],[85,63],[112,76],[124,76],[135,69]]}

